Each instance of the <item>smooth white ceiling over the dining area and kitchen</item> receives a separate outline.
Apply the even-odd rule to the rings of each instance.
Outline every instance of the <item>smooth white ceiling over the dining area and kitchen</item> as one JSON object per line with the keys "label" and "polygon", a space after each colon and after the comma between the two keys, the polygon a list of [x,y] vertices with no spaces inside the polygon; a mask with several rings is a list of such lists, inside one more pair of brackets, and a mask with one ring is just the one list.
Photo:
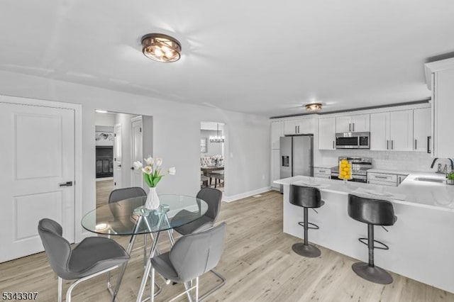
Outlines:
{"label": "smooth white ceiling over the dining area and kitchen", "polygon": [[[181,60],[143,56],[155,32]],[[428,99],[453,37],[452,0],[0,2],[0,69],[264,116]]]}

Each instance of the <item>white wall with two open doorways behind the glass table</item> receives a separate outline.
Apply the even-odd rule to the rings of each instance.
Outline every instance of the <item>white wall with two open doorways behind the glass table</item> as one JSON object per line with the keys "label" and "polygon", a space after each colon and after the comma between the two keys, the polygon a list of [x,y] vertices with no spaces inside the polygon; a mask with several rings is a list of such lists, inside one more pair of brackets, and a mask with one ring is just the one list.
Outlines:
{"label": "white wall with two open doorways behind the glass table", "polygon": [[0,94],[82,104],[84,213],[95,206],[96,108],[153,116],[153,155],[163,157],[165,167],[177,167],[177,175],[160,182],[160,194],[194,195],[199,190],[201,121],[226,124],[226,197],[270,186],[270,125],[265,117],[3,71]]}

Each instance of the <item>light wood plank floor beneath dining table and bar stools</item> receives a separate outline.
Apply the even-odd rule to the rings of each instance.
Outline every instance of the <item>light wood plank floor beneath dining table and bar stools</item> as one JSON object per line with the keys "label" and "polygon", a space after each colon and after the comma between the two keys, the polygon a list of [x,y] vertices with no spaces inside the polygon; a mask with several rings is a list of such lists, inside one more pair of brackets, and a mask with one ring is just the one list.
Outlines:
{"label": "light wood plank floor beneath dining table and bar stools", "polygon": [[[223,203],[218,220],[228,225],[225,250],[216,267],[227,283],[206,301],[454,301],[453,293],[397,274],[392,274],[393,284],[372,284],[352,272],[355,259],[323,247],[319,258],[296,255],[291,247],[300,240],[282,233],[282,195],[277,192]],[[127,245],[128,238],[116,239]],[[167,247],[167,235],[163,235],[160,250]],[[135,301],[143,274],[142,259],[140,250],[133,252],[120,301]],[[201,293],[214,282],[212,274],[202,276]],[[65,291],[69,284],[65,283]],[[38,301],[55,301],[57,279],[40,253],[0,264],[0,290],[39,291]],[[164,284],[157,301],[166,301],[179,291],[182,285]],[[109,301],[103,276],[80,284],[73,293],[73,301]]]}

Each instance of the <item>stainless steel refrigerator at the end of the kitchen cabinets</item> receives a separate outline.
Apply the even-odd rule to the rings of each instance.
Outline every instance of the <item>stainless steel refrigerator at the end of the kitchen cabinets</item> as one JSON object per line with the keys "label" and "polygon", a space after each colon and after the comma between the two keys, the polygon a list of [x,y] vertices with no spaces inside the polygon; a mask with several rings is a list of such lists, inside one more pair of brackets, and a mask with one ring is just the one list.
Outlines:
{"label": "stainless steel refrigerator at the end of the kitchen cabinets", "polygon": [[280,147],[281,179],[297,175],[314,176],[313,135],[282,136]]}

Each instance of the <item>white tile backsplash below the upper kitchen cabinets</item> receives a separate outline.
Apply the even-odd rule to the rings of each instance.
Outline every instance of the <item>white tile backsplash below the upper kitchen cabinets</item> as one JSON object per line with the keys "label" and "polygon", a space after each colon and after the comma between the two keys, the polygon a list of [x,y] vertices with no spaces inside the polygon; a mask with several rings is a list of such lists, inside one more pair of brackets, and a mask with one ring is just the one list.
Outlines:
{"label": "white tile backsplash below the upper kitchen cabinets", "polygon": [[433,158],[430,154],[404,151],[319,150],[319,158],[316,159],[316,164],[336,165],[340,156],[372,157],[375,169],[436,172],[438,163],[440,163],[442,167],[448,164],[448,171],[450,170],[450,161],[448,159],[438,160],[435,167],[431,169]]}

